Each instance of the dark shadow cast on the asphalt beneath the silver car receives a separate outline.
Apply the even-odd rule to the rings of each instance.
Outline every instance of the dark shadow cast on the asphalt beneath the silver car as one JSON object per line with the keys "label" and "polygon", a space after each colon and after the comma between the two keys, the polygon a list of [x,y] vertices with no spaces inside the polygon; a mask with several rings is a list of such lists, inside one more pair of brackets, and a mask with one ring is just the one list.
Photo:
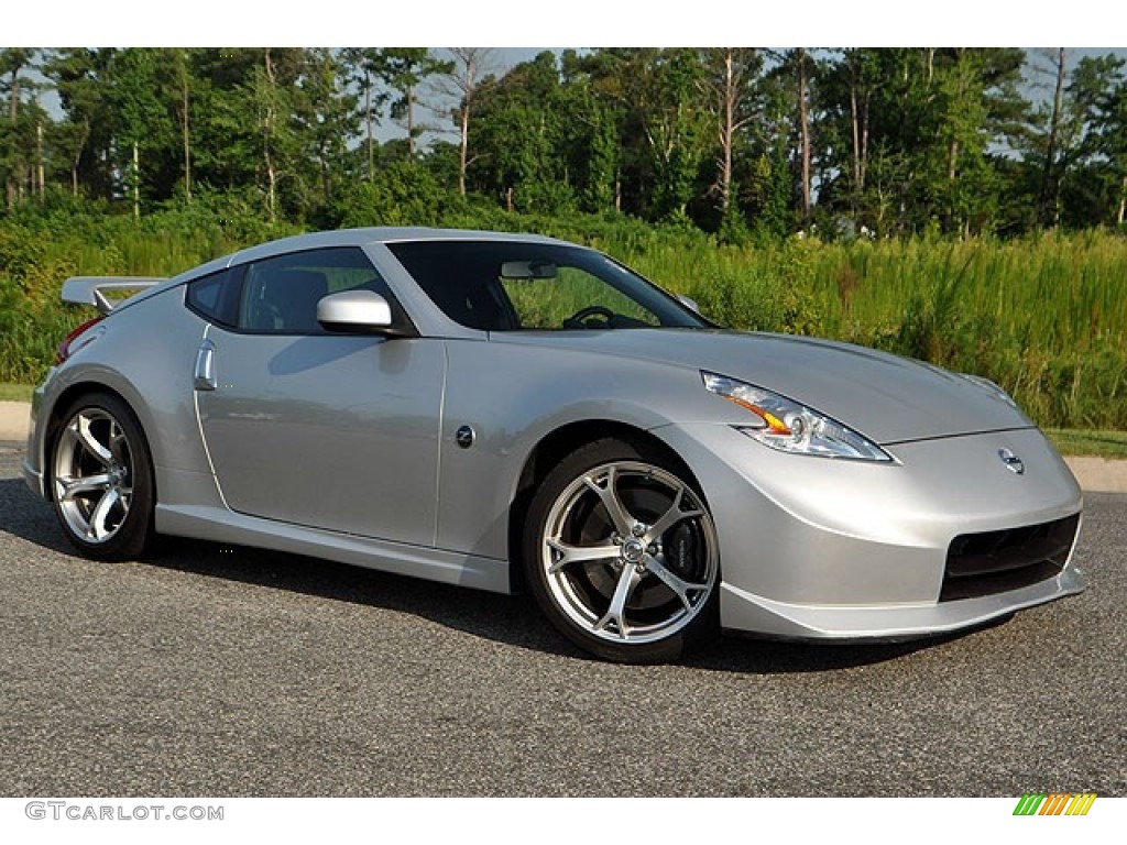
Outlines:
{"label": "dark shadow cast on the asphalt beneath the silver car", "polygon": [[[0,543],[3,534],[78,557],[63,537],[51,508],[18,479],[0,480]],[[181,537],[160,537],[143,562],[166,570],[401,612],[506,646],[597,661],[564,640],[527,595],[505,596],[300,554]],[[913,642],[849,646],[728,635],[690,655],[682,665],[735,674],[825,671],[896,660],[962,635],[966,632]]]}

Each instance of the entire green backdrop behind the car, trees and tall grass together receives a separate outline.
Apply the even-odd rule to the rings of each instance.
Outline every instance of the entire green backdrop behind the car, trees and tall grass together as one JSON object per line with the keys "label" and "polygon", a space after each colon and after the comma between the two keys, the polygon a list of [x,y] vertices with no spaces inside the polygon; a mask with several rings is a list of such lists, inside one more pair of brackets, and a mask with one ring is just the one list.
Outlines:
{"label": "entire green backdrop behind the car, trees and tall grass together", "polygon": [[1127,73],[1064,48],[0,50],[0,381],[72,273],[311,229],[592,243],[739,329],[1127,428]]}

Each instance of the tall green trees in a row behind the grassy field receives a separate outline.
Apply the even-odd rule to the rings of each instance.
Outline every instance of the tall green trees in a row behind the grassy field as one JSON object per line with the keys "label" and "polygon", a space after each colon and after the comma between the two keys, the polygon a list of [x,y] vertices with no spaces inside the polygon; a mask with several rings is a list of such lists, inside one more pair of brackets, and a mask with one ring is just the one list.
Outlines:
{"label": "tall green trees in a row behind the grassy field", "polygon": [[[811,224],[1011,237],[1121,224],[1116,54],[1017,48],[601,48],[506,72],[485,48],[8,48],[11,211],[234,194],[331,226],[455,198],[619,213],[727,240]],[[44,106],[57,97],[56,114]],[[399,124],[381,141],[381,124]],[[384,135],[385,136],[385,135]]]}

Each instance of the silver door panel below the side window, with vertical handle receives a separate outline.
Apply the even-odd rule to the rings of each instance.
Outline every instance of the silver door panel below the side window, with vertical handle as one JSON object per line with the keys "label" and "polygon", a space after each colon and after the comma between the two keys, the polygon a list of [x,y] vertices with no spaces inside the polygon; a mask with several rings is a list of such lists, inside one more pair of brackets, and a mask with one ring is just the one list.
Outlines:
{"label": "silver door panel below the side window, with vertical handle", "polygon": [[446,354],[435,339],[213,327],[204,438],[240,513],[433,545]]}

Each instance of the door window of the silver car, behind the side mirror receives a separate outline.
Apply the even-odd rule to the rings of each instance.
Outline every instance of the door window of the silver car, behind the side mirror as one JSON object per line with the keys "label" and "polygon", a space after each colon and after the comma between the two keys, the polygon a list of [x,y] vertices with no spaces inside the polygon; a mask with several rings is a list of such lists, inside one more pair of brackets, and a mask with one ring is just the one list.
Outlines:
{"label": "door window of the silver car, behind the side mirror", "polygon": [[317,303],[330,293],[354,290],[374,291],[393,302],[380,274],[356,247],[255,261],[243,275],[238,328],[270,335],[325,335],[317,322]]}

